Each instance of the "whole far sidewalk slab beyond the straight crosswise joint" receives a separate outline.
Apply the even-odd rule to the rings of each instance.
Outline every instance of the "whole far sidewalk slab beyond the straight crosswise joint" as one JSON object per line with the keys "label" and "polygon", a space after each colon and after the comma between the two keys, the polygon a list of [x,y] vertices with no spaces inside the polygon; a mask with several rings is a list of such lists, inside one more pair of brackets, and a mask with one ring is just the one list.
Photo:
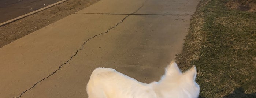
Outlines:
{"label": "whole far sidewalk slab beyond the straight crosswise joint", "polygon": [[77,13],[192,15],[200,0],[101,0]]}

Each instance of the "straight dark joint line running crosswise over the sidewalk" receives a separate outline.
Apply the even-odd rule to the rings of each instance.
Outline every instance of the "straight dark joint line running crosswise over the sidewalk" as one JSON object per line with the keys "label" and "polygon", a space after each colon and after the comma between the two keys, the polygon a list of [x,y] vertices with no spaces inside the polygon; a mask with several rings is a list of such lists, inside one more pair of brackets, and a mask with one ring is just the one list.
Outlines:
{"label": "straight dark joint line running crosswise over the sidewalk", "polygon": [[191,14],[122,14],[122,13],[76,13],[76,14],[192,16]]}

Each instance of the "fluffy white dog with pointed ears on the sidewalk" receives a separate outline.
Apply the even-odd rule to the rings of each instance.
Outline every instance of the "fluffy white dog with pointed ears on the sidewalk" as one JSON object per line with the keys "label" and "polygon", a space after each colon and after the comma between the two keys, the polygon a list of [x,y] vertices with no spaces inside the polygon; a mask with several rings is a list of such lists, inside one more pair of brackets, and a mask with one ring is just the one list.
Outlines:
{"label": "fluffy white dog with pointed ears on the sidewalk", "polygon": [[197,98],[196,67],[181,73],[172,62],[159,82],[138,82],[115,69],[96,68],[87,84],[89,98]]}

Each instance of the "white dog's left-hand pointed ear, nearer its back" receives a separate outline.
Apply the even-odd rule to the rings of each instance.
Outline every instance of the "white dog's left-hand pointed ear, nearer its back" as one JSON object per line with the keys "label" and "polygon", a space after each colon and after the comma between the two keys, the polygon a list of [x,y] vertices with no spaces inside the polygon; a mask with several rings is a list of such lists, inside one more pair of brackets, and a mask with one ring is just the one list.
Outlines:
{"label": "white dog's left-hand pointed ear, nearer its back", "polygon": [[166,68],[166,75],[177,75],[181,74],[178,65],[172,61],[170,65]]}

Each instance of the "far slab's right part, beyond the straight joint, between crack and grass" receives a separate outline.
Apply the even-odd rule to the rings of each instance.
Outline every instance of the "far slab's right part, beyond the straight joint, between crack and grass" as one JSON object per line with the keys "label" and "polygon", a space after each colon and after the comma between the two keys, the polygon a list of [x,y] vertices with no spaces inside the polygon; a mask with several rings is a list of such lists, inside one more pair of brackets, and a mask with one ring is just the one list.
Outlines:
{"label": "far slab's right part, beyond the straight joint, between crack and grass", "polygon": [[135,14],[192,15],[200,0],[147,0]]}

